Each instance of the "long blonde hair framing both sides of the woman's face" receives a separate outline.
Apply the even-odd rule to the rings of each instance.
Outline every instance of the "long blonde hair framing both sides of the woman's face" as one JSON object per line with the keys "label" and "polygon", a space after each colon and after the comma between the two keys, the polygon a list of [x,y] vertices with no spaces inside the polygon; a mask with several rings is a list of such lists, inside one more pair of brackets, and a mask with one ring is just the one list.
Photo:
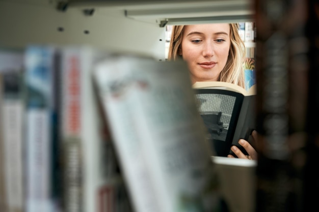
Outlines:
{"label": "long blonde hair framing both sides of the woman's face", "polygon": [[[230,82],[245,88],[244,60],[246,48],[244,41],[238,33],[239,24],[229,23],[230,26],[230,48],[225,67],[220,73],[218,81]],[[184,25],[172,27],[171,42],[168,51],[169,60],[182,59],[178,54],[184,32]]]}

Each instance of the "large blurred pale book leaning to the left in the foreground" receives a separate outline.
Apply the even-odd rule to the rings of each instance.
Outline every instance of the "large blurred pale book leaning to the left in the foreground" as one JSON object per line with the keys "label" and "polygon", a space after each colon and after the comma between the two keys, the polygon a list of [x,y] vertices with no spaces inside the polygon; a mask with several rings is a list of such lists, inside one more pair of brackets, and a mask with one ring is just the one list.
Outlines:
{"label": "large blurred pale book leaning to the left in the foreground", "polygon": [[117,54],[93,80],[135,211],[221,211],[187,64]]}

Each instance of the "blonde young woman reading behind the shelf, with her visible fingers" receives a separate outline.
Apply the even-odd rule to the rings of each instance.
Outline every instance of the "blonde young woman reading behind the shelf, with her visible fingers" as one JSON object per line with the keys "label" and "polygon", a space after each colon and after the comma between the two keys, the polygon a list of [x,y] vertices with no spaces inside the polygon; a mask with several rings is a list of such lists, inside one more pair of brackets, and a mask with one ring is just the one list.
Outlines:
{"label": "blonde young woman reading behind the shelf, with her visible fingers", "polygon": [[[246,49],[238,28],[238,23],[175,25],[168,59],[184,59],[188,63],[193,84],[197,81],[224,81],[245,88],[243,63]],[[254,131],[254,140],[256,136]],[[249,156],[232,146],[238,158],[257,159],[256,150],[249,142],[241,139],[239,143]]]}

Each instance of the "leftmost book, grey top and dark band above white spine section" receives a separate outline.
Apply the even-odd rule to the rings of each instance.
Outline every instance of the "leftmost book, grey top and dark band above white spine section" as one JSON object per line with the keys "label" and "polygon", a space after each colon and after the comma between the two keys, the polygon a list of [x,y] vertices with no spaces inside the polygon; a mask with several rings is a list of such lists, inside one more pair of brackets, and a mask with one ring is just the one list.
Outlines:
{"label": "leftmost book, grey top and dark band above white spine section", "polygon": [[0,75],[0,211],[23,211],[23,50],[0,50]]}

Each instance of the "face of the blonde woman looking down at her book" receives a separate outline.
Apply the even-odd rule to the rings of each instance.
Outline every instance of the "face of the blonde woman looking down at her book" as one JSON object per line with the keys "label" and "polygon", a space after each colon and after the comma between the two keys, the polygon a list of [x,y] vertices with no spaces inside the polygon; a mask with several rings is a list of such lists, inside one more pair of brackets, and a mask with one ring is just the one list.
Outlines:
{"label": "face of the blonde woman looking down at her book", "polygon": [[192,82],[217,81],[230,48],[228,23],[185,25],[179,54],[187,61]]}

